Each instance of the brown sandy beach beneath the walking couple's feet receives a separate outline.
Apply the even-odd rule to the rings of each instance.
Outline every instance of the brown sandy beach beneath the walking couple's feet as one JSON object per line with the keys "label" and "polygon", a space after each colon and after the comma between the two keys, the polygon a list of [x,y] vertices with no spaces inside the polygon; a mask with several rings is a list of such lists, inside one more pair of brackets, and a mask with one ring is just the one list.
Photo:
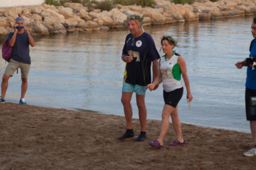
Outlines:
{"label": "brown sandy beach beneath the walking couple's feet", "polygon": [[[137,113],[134,113],[137,114]],[[160,116],[160,115],[159,115]],[[182,124],[188,144],[168,147],[175,139],[170,125],[164,148],[148,145],[161,122],[147,120],[147,139],[119,141],[122,116],[13,103],[0,104],[0,169],[255,169],[251,134]],[[135,137],[140,132],[133,120]]]}

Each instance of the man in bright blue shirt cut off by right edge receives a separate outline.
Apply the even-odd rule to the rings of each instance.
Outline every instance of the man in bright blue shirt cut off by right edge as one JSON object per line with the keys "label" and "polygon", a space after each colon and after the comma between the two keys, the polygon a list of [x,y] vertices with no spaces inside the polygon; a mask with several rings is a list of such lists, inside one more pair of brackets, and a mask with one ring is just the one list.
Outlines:
{"label": "man in bright blue shirt cut off by right edge", "polygon": [[250,58],[245,61],[237,62],[236,66],[242,68],[247,66],[247,77],[245,84],[245,109],[246,119],[250,121],[251,134],[254,142],[254,148],[243,153],[244,156],[256,155],[256,110],[251,109],[253,100],[256,98],[256,17],[253,18],[251,25],[253,40],[250,45]]}

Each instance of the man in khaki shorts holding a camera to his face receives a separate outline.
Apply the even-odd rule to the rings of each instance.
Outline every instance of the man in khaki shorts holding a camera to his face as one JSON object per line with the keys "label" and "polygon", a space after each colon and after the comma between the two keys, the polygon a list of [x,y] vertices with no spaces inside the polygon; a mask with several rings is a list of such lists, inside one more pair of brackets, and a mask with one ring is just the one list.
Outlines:
{"label": "man in khaki shorts holding a camera to his face", "polygon": [[29,28],[24,25],[24,18],[17,17],[15,19],[14,32],[8,35],[9,44],[12,46],[11,60],[5,69],[2,80],[2,94],[0,102],[5,103],[5,94],[8,88],[8,80],[14,74],[17,68],[22,71],[22,94],[19,103],[26,105],[25,93],[28,87],[28,74],[31,59],[29,56],[29,44],[35,46],[35,41],[29,33]]}

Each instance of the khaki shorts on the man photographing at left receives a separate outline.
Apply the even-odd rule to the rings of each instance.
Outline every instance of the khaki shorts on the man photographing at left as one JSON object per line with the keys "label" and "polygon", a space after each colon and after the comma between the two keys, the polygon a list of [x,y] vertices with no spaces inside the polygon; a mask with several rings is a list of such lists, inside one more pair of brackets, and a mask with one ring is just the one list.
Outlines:
{"label": "khaki shorts on the man photographing at left", "polygon": [[20,70],[22,71],[22,78],[28,79],[30,64],[20,63],[15,60],[12,60],[12,59],[10,60],[9,64],[7,65],[4,75],[13,76],[13,74],[17,70],[17,68],[20,68]]}

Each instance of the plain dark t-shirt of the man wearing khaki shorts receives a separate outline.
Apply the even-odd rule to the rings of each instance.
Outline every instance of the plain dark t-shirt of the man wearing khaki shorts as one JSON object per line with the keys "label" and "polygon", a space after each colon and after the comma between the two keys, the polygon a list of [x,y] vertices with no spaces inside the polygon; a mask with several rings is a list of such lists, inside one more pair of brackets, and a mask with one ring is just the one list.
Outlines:
{"label": "plain dark t-shirt of the man wearing khaki shorts", "polygon": [[[9,41],[14,33],[8,35]],[[32,35],[31,35],[32,36]],[[12,48],[11,59],[25,64],[31,64],[29,56],[29,37],[27,33],[16,34],[16,41]]]}

